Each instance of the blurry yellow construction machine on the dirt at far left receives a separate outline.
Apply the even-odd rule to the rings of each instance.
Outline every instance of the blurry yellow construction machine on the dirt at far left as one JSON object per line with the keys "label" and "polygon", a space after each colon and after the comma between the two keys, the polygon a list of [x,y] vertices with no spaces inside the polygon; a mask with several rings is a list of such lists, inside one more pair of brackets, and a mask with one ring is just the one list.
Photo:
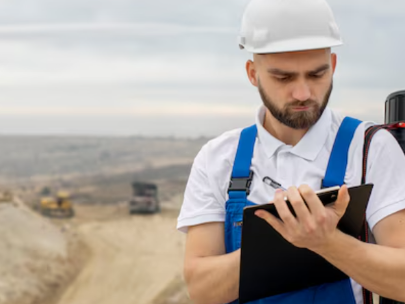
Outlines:
{"label": "blurry yellow construction machine on the dirt at far left", "polygon": [[42,197],[40,211],[43,215],[50,217],[74,216],[70,195],[65,191],[59,191],[55,197]]}

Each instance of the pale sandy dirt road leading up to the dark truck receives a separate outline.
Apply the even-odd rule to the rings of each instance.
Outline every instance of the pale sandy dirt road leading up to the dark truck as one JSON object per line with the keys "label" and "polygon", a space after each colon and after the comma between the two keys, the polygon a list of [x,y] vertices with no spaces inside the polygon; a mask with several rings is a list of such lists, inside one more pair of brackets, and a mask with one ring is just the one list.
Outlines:
{"label": "pale sandy dirt road leading up to the dark truck", "polygon": [[181,275],[175,224],[171,212],[79,224],[92,255],[58,304],[148,304]]}

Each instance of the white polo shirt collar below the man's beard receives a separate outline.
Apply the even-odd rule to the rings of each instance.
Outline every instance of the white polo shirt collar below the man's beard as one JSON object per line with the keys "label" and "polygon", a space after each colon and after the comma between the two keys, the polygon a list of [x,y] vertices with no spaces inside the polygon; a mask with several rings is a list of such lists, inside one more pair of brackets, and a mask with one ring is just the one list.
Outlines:
{"label": "white polo shirt collar below the man's beard", "polygon": [[[287,146],[284,142],[273,137],[263,127],[266,115],[266,107],[262,105],[256,116],[256,126],[259,141],[263,144],[265,154],[271,158],[281,146]],[[332,113],[327,107],[322,116],[313,125],[304,137],[291,149],[291,153],[309,161],[314,161],[328,139],[332,124]]]}

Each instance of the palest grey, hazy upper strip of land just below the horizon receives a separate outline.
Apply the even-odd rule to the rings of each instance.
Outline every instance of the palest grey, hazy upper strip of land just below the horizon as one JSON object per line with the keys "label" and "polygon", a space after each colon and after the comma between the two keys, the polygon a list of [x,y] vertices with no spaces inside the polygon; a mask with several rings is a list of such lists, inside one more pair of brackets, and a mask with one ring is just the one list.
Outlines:
{"label": "palest grey, hazy upper strip of land just below the horizon", "polygon": [[7,179],[132,171],[161,160],[193,158],[206,138],[2,136],[0,177]]}

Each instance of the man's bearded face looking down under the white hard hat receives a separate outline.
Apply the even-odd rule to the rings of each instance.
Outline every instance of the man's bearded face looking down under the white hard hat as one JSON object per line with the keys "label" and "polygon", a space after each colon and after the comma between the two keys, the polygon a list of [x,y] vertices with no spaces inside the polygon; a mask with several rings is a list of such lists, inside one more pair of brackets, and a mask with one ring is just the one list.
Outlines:
{"label": "man's bearded face looking down under the white hard hat", "polygon": [[264,105],[280,123],[310,128],[328,104],[335,65],[330,50],[256,55],[257,87]]}

